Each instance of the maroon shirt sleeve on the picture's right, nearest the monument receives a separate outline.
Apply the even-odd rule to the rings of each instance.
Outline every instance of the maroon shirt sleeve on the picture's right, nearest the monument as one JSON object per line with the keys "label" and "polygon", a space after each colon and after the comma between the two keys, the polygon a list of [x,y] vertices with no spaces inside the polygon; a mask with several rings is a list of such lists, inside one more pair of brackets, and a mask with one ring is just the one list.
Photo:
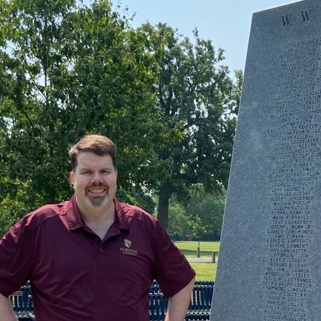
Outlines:
{"label": "maroon shirt sleeve on the picture's right, nearest the monument", "polygon": [[165,297],[172,297],[192,281],[195,271],[158,222],[153,248],[156,281]]}

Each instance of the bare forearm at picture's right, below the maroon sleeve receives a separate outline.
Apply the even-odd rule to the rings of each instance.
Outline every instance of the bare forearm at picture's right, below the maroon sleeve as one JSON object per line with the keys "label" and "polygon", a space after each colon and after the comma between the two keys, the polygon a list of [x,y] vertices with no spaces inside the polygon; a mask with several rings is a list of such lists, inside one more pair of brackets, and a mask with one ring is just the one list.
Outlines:
{"label": "bare forearm at picture's right, below the maroon sleeve", "polygon": [[191,301],[195,278],[168,300],[165,321],[184,321]]}

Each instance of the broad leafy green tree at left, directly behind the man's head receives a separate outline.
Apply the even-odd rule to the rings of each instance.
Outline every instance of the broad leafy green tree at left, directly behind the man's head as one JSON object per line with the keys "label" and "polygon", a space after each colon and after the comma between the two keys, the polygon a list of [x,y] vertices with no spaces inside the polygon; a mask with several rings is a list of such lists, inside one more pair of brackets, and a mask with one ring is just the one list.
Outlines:
{"label": "broad leafy green tree at left, directly behind the man's head", "polygon": [[151,112],[146,41],[107,0],[0,0],[3,225],[70,197],[68,146],[87,133],[116,142],[121,200],[150,199],[164,173],[154,149],[172,134]]}

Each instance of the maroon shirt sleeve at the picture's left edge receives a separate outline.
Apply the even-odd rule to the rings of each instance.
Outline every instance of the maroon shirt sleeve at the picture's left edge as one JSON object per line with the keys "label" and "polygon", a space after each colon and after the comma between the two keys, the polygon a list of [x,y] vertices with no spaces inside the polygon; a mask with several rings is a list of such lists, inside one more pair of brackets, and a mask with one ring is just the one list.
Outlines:
{"label": "maroon shirt sleeve at the picture's left edge", "polygon": [[0,240],[0,293],[5,297],[31,277],[33,239],[29,220],[24,217]]}

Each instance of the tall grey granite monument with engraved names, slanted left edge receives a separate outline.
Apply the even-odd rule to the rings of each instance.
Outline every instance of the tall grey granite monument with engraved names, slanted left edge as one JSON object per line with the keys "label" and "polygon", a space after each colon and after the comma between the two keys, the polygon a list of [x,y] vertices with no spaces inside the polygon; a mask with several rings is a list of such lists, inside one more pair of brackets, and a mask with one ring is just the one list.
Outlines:
{"label": "tall grey granite monument with engraved names, slanted left edge", "polygon": [[321,320],[321,1],[253,14],[211,321]]}

